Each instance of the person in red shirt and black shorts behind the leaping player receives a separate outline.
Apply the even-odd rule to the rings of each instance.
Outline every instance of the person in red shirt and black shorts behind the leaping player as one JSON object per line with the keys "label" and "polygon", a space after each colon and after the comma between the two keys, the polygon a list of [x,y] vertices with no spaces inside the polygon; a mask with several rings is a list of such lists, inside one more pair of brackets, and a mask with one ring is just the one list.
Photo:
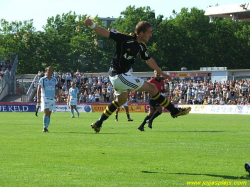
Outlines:
{"label": "person in red shirt and black shorts behind the leaping player", "polygon": [[[167,93],[167,90],[164,86],[164,81],[161,79],[160,74],[154,70],[154,78],[150,79],[148,82],[153,83],[156,87],[159,93]],[[148,115],[145,117],[142,124],[138,127],[140,131],[144,131],[144,125],[148,123],[148,127],[152,129],[152,123],[153,120],[162,114],[162,107],[157,103],[155,100],[152,99],[152,97],[149,98],[149,111]]]}

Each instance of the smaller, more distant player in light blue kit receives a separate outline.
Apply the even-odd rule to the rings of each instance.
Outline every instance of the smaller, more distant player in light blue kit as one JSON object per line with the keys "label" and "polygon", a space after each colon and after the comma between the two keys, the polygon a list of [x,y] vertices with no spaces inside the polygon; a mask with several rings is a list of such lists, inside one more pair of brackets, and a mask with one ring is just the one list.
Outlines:
{"label": "smaller, more distant player in light blue kit", "polygon": [[79,98],[79,89],[76,87],[75,82],[71,82],[71,88],[69,89],[69,95],[68,95],[68,103],[71,108],[71,118],[74,118],[74,109],[77,112],[77,117],[79,117],[79,112],[77,110],[77,102]]}

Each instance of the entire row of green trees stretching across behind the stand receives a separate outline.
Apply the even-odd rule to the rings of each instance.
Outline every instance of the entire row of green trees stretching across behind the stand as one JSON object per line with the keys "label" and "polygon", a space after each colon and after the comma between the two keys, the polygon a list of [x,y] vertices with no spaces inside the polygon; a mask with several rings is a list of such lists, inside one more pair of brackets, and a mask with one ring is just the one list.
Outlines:
{"label": "entire row of green trees stretching across behind the stand", "polygon": [[[69,12],[47,19],[44,31],[36,32],[33,20],[7,22],[1,20],[0,52],[19,56],[17,73],[37,73],[46,66],[64,72],[107,71],[114,54],[115,42],[88,28],[87,15]],[[98,17],[95,22],[103,23]],[[153,36],[147,42],[150,56],[163,70],[188,70],[200,67],[226,66],[229,69],[250,66],[250,23],[216,18],[209,23],[204,11],[182,8],[180,13],[163,19],[155,17],[150,7],[128,6],[111,27],[133,33],[138,22],[149,21]],[[108,28],[107,28],[108,29]],[[151,71],[137,58],[134,71]]]}

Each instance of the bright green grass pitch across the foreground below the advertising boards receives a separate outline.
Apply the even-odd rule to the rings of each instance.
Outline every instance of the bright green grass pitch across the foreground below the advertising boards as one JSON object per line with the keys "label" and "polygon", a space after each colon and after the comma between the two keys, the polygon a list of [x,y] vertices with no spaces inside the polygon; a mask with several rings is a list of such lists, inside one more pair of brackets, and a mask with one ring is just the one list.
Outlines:
{"label": "bright green grass pitch across the foreground below the advertising boards", "polygon": [[100,115],[52,113],[43,133],[42,113],[0,113],[0,186],[250,185],[248,115],[162,114],[141,132],[146,113],[119,113],[95,133]]}

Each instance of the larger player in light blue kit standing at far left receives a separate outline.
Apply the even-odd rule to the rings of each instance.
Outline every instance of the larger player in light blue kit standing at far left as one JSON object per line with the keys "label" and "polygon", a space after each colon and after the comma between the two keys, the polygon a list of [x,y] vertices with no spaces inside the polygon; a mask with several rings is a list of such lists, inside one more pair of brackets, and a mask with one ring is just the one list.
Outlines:
{"label": "larger player in light blue kit standing at far left", "polygon": [[44,111],[43,116],[43,132],[49,132],[50,116],[52,110],[56,109],[55,96],[58,102],[61,102],[61,97],[58,89],[57,79],[52,77],[53,71],[49,66],[45,69],[46,76],[39,80],[37,89],[37,103],[41,103],[41,111]]}

